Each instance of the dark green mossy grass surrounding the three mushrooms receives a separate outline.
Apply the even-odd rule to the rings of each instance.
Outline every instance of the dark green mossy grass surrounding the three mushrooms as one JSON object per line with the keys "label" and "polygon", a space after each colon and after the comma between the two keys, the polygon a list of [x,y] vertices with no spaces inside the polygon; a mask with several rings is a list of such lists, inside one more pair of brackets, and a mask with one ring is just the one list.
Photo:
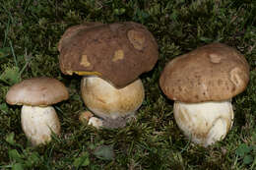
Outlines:
{"label": "dark green mossy grass surrounding the three mushrooms", "polygon": [[[0,169],[256,168],[255,0],[0,0],[0,14]],[[141,76],[145,102],[137,122],[126,128],[98,131],[78,121],[87,109],[81,78],[61,74],[57,43],[66,28],[86,21],[138,22],[158,41],[159,62]],[[232,100],[235,118],[227,137],[204,148],[179,131],[159,78],[170,59],[215,41],[245,55],[250,83]],[[32,147],[21,129],[21,107],[6,104],[5,94],[11,85],[40,76],[67,85],[70,99],[55,105],[61,136]]]}

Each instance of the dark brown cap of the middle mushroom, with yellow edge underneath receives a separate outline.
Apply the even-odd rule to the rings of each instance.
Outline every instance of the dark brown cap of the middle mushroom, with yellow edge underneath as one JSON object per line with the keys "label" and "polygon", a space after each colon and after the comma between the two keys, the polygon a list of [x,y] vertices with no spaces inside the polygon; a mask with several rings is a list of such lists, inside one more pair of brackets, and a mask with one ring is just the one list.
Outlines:
{"label": "dark brown cap of the middle mushroom, with yellow edge underneath", "polygon": [[96,75],[116,87],[124,87],[152,70],[159,57],[152,33],[132,22],[68,28],[58,49],[62,73]]}

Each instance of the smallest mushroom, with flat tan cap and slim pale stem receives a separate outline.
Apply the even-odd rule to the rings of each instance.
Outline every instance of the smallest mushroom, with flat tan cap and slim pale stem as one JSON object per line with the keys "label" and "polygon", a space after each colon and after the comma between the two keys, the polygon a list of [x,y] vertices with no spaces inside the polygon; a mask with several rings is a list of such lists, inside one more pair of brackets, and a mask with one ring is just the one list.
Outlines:
{"label": "smallest mushroom, with flat tan cap and slim pale stem", "polygon": [[13,85],[6,94],[6,102],[23,105],[22,128],[33,145],[50,142],[52,132],[60,134],[60,123],[50,105],[69,97],[65,85],[51,78],[32,78]]}

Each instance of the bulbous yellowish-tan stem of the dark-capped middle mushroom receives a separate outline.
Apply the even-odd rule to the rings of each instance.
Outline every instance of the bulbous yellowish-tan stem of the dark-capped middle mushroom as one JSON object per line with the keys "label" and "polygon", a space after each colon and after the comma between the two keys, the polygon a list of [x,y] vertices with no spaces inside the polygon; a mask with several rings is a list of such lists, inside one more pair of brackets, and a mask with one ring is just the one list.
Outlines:
{"label": "bulbous yellowish-tan stem of the dark-capped middle mushroom", "polygon": [[86,106],[104,120],[106,128],[123,127],[126,118],[134,115],[141,106],[145,95],[141,80],[115,88],[97,77],[84,77],[81,91]]}

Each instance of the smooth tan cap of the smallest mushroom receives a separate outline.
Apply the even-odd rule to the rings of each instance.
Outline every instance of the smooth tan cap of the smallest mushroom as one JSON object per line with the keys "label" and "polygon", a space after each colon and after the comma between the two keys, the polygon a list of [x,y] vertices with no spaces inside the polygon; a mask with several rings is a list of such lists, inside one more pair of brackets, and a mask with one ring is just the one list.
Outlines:
{"label": "smooth tan cap of the smallest mushroom", "polygon": [[13,85],[6,94],[6,102],[16,105],[47,106],[66,100],[68,90],[52,78],[32,78]]}

